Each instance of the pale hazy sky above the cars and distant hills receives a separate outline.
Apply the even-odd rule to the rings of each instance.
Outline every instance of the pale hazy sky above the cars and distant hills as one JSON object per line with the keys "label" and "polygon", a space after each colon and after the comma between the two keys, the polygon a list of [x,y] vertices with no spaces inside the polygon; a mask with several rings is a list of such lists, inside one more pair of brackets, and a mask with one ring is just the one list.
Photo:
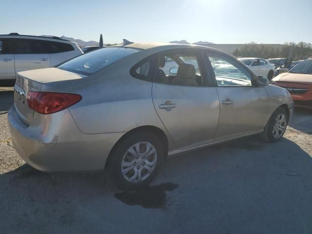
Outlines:
{"label": "pale hazy sky above the cars and distant hills", "polygon": [[0,34],[312,43],[312,0],[1,0]]}

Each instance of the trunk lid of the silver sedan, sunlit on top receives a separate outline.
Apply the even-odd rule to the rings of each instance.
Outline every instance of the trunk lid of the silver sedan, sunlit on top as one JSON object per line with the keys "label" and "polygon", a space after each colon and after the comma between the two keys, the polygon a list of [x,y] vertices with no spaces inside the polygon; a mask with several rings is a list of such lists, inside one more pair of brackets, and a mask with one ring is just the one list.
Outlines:
{"label": "trunk lid of the silver sedan, sunlit on top", "polygon": [[[42,86],[47,83],[83,77],[85,76],[58,68],[46,68],[18,73],[14,86],[14,105],[20,119],[26,125],[30,125],[34,116],[34,110],[31,110],[27,103],[28,92],[39,92]],[[57,92],[57,90],[53,90],[53,92]]]}

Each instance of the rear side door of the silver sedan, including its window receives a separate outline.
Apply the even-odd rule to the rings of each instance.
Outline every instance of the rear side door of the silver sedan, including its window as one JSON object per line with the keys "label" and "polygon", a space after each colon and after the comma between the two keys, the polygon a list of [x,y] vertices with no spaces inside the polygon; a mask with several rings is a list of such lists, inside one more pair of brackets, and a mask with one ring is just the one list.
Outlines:
{"label": "rear side door of the silver sedan, including its window", "polygon": [[157,55],[152,97],[156,112],[178,149],[212,142],[219,98],[209,87],[200,52],[169,50]]}

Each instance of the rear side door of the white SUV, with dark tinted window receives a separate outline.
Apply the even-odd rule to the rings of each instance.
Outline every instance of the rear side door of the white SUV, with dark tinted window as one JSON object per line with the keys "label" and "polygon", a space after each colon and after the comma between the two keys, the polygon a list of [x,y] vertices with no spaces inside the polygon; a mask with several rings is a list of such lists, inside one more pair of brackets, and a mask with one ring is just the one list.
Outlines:
{"label": "rear side door of the white SUV, with dark tinted window", "polygon": [[44,40],[14,39],[16,73],[50,67],[50,55]]}

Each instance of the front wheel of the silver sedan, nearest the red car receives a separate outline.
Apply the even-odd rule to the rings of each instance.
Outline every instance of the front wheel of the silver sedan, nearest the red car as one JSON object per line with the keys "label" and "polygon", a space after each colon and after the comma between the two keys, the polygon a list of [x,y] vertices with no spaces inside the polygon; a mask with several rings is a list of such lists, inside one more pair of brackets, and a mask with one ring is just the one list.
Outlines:
{"label": "front wheel of the silver sedan, nearest the red car", "polygon": [[266,142],[275,142],[283,137],[288,124],[288,115],[284,108],[278,107],[270,117],[260,137]]}

